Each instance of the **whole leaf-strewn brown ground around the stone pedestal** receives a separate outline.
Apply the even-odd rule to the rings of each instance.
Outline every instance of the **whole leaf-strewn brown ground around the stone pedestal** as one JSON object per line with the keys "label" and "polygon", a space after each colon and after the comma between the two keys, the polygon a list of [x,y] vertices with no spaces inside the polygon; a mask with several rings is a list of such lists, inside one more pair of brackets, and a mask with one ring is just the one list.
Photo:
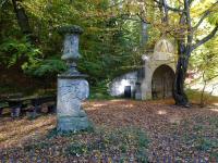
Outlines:
{"label": "whole leaf-strewn brown ground around the stone pedestal", "polygon": [[218,162],[218,106],[87,101],[94,130],[59,135],[56,115],[0,118],[0,162]]}

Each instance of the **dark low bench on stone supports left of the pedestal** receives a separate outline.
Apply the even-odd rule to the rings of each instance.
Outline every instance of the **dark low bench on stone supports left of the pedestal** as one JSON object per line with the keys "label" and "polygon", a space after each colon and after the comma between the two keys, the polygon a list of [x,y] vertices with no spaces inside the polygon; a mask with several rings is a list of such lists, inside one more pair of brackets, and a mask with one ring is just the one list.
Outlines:
{"label": "dark low bench on stone supports left of the pedestal", "polygon": [[19,117],[22,109],[26,108],[28,104],[33,105],[33,117],[36,116],[38,112],[40,112],[40,105],[44,103],[53,102],[52,104],[48,105],[48,112],[56,112],[56,96],[29,96],[29,97],[22,97],[22,98],[9,98],[4,100],[2,106],[0,106],[0,115],[2,110],[5,108],[11,109],[11,116]]}

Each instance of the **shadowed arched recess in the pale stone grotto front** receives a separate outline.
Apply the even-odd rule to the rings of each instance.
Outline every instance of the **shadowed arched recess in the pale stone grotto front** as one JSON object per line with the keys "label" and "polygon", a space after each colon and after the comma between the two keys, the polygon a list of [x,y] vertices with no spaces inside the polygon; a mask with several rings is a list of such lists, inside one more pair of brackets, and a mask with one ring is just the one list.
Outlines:
{"label": "shadowed arched recess in the pale stone grotto front", "polygon": [[172,97],[174,72],[168,65],[160,65],[153,74],[153,99],[166,99]]}

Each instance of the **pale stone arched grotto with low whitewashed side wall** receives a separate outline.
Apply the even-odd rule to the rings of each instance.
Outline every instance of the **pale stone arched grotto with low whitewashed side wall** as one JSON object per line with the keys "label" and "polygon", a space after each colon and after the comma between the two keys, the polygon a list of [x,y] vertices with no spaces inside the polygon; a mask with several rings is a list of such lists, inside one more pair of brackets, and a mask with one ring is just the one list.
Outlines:
{"label": "pale stone arched grotto with low whitewashed side wall", "polygon": [[142,59],[142,68],[114,78],[109,86],[109,93],[138,100],[172,97],[174,46],[167,38],[160,38],[154,51],[144,54]]}

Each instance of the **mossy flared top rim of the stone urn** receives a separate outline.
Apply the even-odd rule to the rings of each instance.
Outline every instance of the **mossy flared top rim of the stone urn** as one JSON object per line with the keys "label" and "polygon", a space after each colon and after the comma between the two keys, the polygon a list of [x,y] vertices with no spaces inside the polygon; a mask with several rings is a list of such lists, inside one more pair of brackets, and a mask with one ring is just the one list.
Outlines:
{"label": "mossy flared top rim of the stone urn", "polygon": [[64,25],[58,28],[58,33],[61,35],[64,34],[83,34],[83,29],[82,27],[80,27],[78,25]]}

